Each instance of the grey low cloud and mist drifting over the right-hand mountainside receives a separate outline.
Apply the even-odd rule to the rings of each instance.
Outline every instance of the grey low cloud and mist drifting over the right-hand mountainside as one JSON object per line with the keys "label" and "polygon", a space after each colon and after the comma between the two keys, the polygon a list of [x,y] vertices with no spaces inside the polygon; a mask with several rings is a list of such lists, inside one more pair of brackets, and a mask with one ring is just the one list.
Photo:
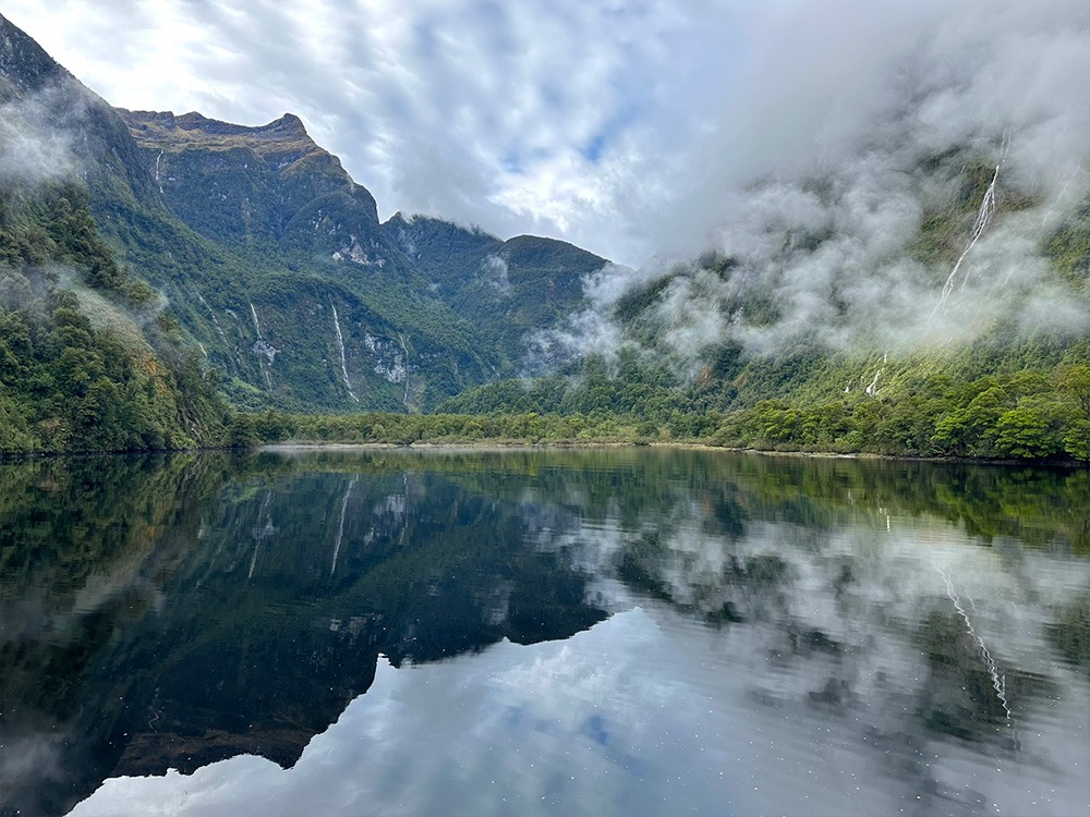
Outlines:
{"label": "grey low cloud and mist drifting over the right-hand mountainside", "polygon": [[[1090,329],[1043,255],[1090,188],[1090,8],[794,2],[752,22],[657,254],[589,277],[549,342],[608,358],[650,333],[692,371],[725,343],[907,353]],[[633,332],[617,307],[650,285]]]}

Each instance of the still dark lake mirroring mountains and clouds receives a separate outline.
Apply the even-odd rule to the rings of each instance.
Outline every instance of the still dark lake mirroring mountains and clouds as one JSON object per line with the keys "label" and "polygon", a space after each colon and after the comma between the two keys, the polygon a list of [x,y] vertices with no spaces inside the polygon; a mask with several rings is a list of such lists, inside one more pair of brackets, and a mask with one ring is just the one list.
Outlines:
{"label": "still dark lake mirroring mountains and clouds", "polygon": [[1087,815],[1090,474],[0,465],[0,810]]}

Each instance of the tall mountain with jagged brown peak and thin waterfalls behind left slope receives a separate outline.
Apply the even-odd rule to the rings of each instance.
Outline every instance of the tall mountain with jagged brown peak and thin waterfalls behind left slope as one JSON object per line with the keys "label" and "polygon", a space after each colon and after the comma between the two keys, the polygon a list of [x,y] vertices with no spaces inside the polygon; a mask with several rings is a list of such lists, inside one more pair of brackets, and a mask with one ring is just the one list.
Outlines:
{"label": "tall mountain with jagged brown peak and thin waterfalls behind left slope", "polygon": [[[120,114],[162,202],[201,239],[182,243],[222,259],[220,275],[204,264],[170,269],[172,251],[144,245],[140,224],[116,234],[185,305],[183,322],[232,375],[237,403],[419,408],[495,370],[472,328],[385,241],[371,194],[296,118],[244,127],[199,114]],[[138,221],[121,216],[118,223]]]}

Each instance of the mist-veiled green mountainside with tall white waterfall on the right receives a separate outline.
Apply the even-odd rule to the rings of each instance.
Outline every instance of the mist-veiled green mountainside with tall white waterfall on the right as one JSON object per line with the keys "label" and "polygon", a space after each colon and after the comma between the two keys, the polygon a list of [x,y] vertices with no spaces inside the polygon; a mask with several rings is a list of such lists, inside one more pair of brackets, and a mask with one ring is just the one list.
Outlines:
{"label": "mist-veiled green mountainside with tall white waterfall on the right", "polygon": [[[918,157],[903,171],[918,216],[892,239],[851,233],[856,192],[835,175],[802,181],[801,224],[783,182],[756,185],[748,254],[603,286],[611,296],[555,338],[558,374],[440,411],[613,412],[652,439],[760,448],[1086,460],[1090,199],[1065,212],[1017,178],[998,187],[1002,161]],[[764,214],[762,196],[776,202]]]}

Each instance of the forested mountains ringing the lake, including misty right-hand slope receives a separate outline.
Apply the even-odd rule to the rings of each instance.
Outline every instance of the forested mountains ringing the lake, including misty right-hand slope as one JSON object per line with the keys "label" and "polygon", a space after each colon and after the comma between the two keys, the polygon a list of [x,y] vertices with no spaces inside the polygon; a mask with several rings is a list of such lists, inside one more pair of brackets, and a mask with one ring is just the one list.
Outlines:
{"label": "forested mountains ringing the lake, including misty right-hand slope", "polygon": [[[1024,134],[938,144],[907,99],[855,146],[735,191],[717,248],[637,272],[549,239],[383,223],[298,117],[116,110],[0,31],[2,450],[221,439],[218,390],[251,411],[614,414],[647,439],[1090,456],[1086,171],[1042,172],[1010,150]],[[80,346],[97,351],[76,366],[61,350]],[[113,386],[92,400],[99,373]],[[138,423],[110,420],[129,431],[96,436],[137,403]]]}

